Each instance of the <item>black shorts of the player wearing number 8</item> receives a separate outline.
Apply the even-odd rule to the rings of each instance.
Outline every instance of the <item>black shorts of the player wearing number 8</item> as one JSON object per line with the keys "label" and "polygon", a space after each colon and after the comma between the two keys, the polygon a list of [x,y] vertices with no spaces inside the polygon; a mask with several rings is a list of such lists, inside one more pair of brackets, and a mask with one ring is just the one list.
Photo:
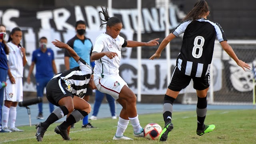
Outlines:
{"label": "black shorts of the player wearing number 8", "polygon": [[191,79],[194,82],[194,89],[196,90],[205,90],[210,86],[210,74],[206,74],[204,77],[194,77],[194,76],[187,76],[180,72],[178,67],[176,66],[174,68],[174,72],[172,74],[171,82],[168,86],[170,90],[173,90],[175,92],[179,92],[183,88],[186,88],[188,84],[190,83]]}

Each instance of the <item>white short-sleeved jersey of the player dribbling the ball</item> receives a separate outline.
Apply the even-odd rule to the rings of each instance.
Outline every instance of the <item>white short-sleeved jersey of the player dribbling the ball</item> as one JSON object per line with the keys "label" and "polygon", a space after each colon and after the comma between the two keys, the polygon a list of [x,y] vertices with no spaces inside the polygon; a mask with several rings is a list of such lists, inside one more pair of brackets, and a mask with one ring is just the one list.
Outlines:
{"label": "white short-sleeved jersey of the player dribbling the ball", "polygon": [[95,41],[92,52],[116,52],[118,56],[110,59],[103,56],[99,60],[95,60],[94,74],[99,75],[119,75],[119,66],[121,59],[121,48],[124,44],[124,38],[117,36],[116,39],[108,34],[100,34]]}

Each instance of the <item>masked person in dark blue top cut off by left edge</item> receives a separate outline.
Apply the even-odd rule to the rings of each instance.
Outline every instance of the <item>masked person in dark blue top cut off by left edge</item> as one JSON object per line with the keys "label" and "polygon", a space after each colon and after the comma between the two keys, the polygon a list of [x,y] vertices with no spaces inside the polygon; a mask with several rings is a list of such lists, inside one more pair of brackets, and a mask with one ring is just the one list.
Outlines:
{"label": "masked person in dark blue top cut off by left edge", "polygon": [[6,54],[9,54],[9,48],[4,41],[6,36],[6,27],[0,24],[0,132],[6,132],[1,129],[2,126],[2,106],[4,102],[4,87],[8,74],[8,60]]}

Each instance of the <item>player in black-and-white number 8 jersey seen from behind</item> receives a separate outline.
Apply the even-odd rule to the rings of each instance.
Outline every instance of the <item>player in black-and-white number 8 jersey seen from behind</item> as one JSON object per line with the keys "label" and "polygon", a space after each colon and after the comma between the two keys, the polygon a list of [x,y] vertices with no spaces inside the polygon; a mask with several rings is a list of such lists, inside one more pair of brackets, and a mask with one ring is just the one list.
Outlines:
{"label": "player in black-and-white number 8 jersey seen from behind", "polygon": [[186,88],[192,79],[194,89],[198,96],[197,102],[197,130],[196,134],[202,136],[211,132],[215,126],[205,125],[204,119],[207,111],[206,95],[210,86],[210,64],[214,50],[214,41],[217,38],[222,48],[233,58],[237,65],[245,70],[250,66],[239,60],[231,46],[227,43],[226,36],[218,23],[207,20],[209,7],[205,0],[198,0],[194,8],[182,20],[182,23],[169,34],[160,44],[156,53],[150,60],[159,58],[166,45],[180,34],[184,33],[180,54],[166,94],[164,96],[163,117],[165,126],[160,134],[160,141],[166,141],[169,132],[173,129],[172,104],[180,90]]}

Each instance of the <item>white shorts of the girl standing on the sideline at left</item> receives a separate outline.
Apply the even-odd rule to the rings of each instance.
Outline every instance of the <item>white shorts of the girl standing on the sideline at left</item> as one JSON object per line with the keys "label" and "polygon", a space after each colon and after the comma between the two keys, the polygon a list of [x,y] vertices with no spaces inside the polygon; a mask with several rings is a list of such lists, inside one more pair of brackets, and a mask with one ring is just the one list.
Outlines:
{"label": "white shorts of the girl standing on the sideline at left", "polygon": [[9,100],[12,102],[22,102],[23,101],[23,86],[22,78],[15,78],[16,84],[11,84],[10,79],[6,80],[7,86],[4,90],[4,100]]}

